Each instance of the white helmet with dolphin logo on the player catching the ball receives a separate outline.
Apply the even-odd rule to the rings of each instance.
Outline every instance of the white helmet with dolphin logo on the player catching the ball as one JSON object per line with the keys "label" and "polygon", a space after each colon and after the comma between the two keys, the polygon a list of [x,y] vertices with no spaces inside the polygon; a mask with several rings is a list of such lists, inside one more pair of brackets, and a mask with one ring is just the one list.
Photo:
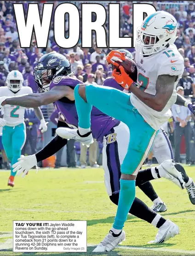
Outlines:
{"label": "white helmet with dolphin logo on the player catching the ball", "polygon": [[[177,38],[178,23],[168,12],[155,12],[143,20],[137,30],[136,45],[143,55],[151,55],[166,49]],[[147,42],[144,39],[147,37]]]}

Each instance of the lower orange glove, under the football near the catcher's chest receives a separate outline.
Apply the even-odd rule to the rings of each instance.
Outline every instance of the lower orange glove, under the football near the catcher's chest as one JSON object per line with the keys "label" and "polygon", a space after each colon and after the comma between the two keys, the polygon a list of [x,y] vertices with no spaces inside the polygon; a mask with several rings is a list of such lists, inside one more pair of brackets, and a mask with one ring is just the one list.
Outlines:
{"label": "lower orange glove, under the football near the catcher's chest", "polygon": [[116,82],[119,83],[123,88],[129,89],[133,83],[133,80],[127,75],[123,66],[119,66],[120,73],[116,72],[116,69],[112,72],[112,77],[115,78]]}

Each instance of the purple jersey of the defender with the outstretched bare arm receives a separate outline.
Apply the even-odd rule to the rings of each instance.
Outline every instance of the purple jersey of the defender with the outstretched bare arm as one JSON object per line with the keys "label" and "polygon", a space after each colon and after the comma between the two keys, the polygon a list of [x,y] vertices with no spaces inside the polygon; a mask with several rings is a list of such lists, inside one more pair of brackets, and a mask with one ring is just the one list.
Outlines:
{"label": "purple jersey of the defender with the outstretched bare arm", "polygon": [[[80,82],[77,78],[72,77],[56,77],[50,84],[50,89],[55,86],[63,85],[75,88]],[[75,101],[70,101],[67,98],[62,98],[54,103],[55,108],[58,112],[63,115],[67,124],[78,127],[78,115],[76,111]],[[95,139],[103,142],[103,136],[110,131],[114,126],[120,123],[119,120],[113,119],[112,117],[104,114],[98,108],[92,107],[91,112],[91,129],[92,135]]]}

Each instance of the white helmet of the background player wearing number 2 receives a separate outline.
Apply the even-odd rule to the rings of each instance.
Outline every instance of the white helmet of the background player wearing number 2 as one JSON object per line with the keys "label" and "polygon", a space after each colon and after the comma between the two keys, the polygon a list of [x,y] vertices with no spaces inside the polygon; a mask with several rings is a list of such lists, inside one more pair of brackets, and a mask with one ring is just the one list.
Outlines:
{"label": "white helmet of the background player wearing number 2", "polygon": [[22,88],[23,81],[23,75],[18,70],[9,72],[6,79],[7,87],[13,92],[17,92]]}

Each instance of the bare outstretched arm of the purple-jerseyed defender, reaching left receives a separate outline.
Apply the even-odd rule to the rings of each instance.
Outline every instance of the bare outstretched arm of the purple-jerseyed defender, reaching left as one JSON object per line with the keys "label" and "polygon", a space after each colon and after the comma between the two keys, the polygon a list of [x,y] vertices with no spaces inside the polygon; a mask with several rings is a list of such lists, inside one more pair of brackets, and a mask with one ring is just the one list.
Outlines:
{"label": "bare outstretched arm of the purple-jerseyed defender, reaching left", "polygon": [[68,98],[70,101],[74,101],[74,90],[69,86],[56,86],[50,91],[45,93],[35,93],[23,96],[16,96],[8,98],[1,103],[2,106],[17,105],[21,107],[40,107],[42,105],[48,105],[52,102],[58,101],[63,97]]}

